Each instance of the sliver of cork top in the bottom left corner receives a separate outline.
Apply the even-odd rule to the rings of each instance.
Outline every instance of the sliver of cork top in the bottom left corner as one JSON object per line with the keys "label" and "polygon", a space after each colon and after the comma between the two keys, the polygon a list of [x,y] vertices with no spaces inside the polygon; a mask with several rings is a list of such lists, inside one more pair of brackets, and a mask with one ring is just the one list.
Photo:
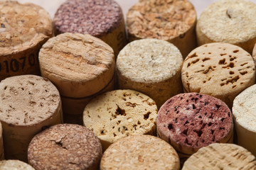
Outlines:
{"label": "sliver of cork top in the bottom left corner", "polygon": [[29,164],[26,164],[25,162],[21,162],[21,161],[18,161],[18,160],[3,160],[3,161],[0,161],[0,169],[1,170],[17,170],[17,169],[35,170]]}

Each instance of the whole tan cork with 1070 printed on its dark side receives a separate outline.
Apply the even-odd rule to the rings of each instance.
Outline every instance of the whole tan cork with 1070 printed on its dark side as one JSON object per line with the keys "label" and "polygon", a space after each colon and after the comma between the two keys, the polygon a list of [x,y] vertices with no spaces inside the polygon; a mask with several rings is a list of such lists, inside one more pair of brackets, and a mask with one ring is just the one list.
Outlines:
{"label": "whole tan cork with 1070 printed on its dark side", "polygon": [[53,36],[46,10],[35,4],[0,1],[0,81],[21,74],[40,74],[38,52]]}

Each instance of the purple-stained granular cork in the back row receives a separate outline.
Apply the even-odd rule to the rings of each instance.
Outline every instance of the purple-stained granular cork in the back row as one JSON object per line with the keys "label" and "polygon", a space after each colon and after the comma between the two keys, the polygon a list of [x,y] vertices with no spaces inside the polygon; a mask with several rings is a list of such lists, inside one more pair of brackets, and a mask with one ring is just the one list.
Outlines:
{"label": "purple-stained granular cork in the back row", "polygon": [[55,13],[57,34],[90,34],[106,42],[117,56],[126,45],[122,8],[114,0],[65,1]]}

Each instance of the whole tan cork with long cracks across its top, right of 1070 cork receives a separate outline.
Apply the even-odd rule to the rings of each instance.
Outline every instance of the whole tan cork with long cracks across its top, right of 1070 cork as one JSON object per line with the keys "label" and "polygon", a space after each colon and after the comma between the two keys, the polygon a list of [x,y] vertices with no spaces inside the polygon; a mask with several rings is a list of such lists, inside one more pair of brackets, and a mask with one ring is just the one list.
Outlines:
{"label": "whole tan cork with long cracks across its top, right of 1070 cork", "polygon": [[50,38],[40,50],[41,74],[57,86],[65,115],[81,119],[86,104],[114,89],[114,52],[92,35],[63,33]]}

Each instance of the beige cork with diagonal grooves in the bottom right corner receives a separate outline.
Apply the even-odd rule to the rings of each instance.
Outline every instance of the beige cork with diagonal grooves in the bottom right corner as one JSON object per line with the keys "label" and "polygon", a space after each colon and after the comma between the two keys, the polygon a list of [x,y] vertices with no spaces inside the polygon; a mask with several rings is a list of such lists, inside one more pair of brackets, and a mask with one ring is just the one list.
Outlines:
{"label": "beige cork with diagonal grooves in the bottom right corner", "polygon": [[182,170],[256,169],[256,159],[247,149],[234,144],[211,144],[198,150],[183,165]]}

